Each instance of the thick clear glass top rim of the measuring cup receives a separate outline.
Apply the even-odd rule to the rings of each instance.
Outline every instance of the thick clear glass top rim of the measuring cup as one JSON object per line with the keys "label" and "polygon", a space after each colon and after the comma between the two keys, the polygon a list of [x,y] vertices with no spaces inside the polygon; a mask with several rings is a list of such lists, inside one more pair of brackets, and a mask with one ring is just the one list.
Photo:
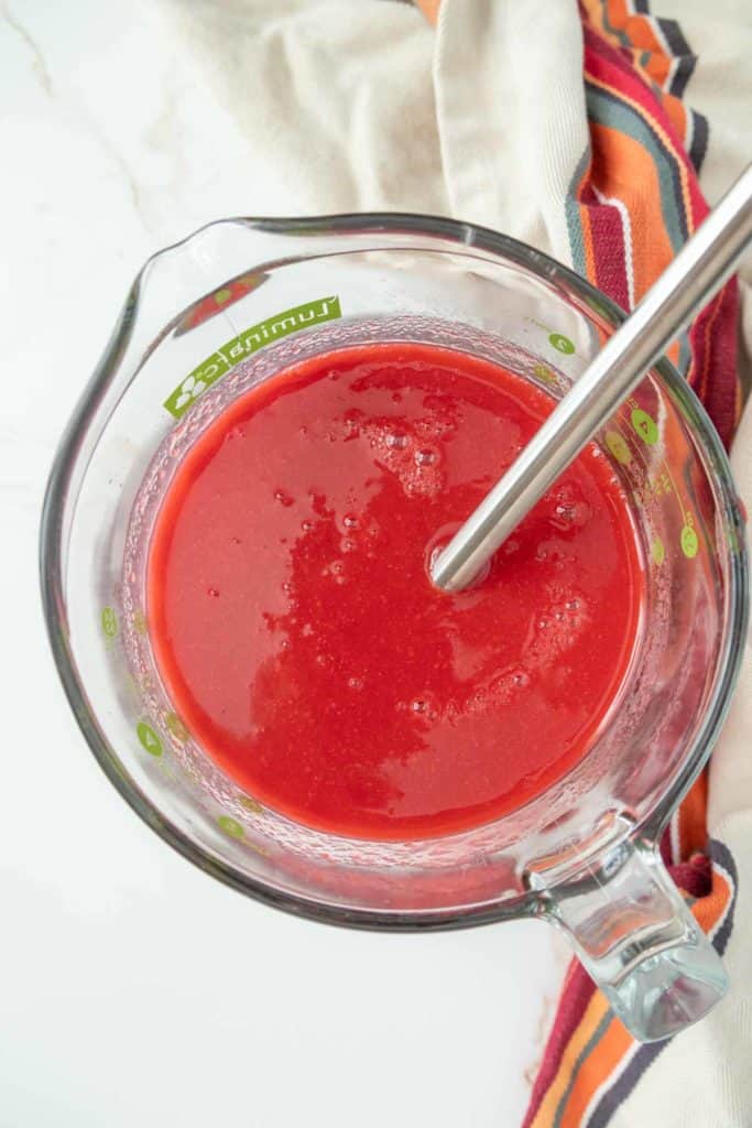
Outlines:
{"label": "thick clear glass top rim of the measuring cup", "polygon": [[[480,908],[462,906],[392,913],[318,901],[312,897],[303,897],[289,890],[276,889],[260,879],[249,876],[230,862],[218,858],[204,847],[198,846],[178,826],[166,818],[141,792],[127,773],[123,772],[120,758],[99,728],[85,687],[79,679],[68,641],[68,616],[63,592],[63,561],[67,549],[63,544],[63,517],[69,503],[68,493],[73,467],[79,455],[81,437],[87,432],[104,393],[116,374],[120,360],[129,343],[138,316],[143,283],[149,271],[159,259],[186,247],[205,232],[228,226],[240,226],[271,235],[294,233],[297,236],[321,237],[402,233],[406,236],[441,237],[455,244],[457,253],[475,247],[497,259],[504,259],[523,267],[540,280],[564,290],[568,297],[576,298],[578,303],[592,315],[600,316],[612,329],[618,328],[627,317],[627,314],[602,291],[543,252],[489,228],[419,213],[355,212],[303,218],[236,217],[219,219],[202,226],[184,239],[151,255],[138,272],[109,342],[63,431],[50,470],[42,509],[39,576],[44,618],[57,673],[79,729],[109,782],[147,826],[198,869],[262,904],[318,922],[345,927],[392,932],[470,927],[538,915],[540,906],[538,898],[532,893],[521,893],[514,899],[493,905],[485,904]],[[312,247],[313,244],[310,257],[316,257]],[[687,415],[688,412],[691,414],[691,426],[698,446],[704,455],[708,456],[708,461],[713,467],[713,476],[724,517],[727,521],[733,520],[737,511],[737,494],[731,466],[726,450],[705,407],[684,378],[665,356],[662,356],[651,371],[657,373],[670,396],[678,400],[684,409],[683,414]],[[718,655],[718,677],[713,696],[708,702],[692,744],[683,757],[681,770],[676,773],[671,785],[657,799],[646,818],[635,828],[635,832],[639,832],[653,841],[657,840],[672,812],[702,769],[731,704],[741,667],[749,617],[749,570],[744,539],[742,539],[738,553],[729,554],[728,580],[728,629],[723,650]]]}

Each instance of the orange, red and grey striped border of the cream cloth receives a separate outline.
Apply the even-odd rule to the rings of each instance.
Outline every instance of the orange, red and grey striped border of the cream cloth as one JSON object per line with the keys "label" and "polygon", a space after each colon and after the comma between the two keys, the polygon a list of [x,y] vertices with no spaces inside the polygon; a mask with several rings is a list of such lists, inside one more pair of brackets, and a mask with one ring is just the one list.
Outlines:
{"label": "orange, red and grey striped border of the cream cloth", "polygon": [[[417,2],[430,20],[437,19],[440,0]],[[683,102],[696,56],[675,20],[652,16],[646,0],[582,0],[580,15],[589,143],[561,209],[574,267],[629,310],[707,214],[698,176],[708,122]],[[743,405],[737,320],[732,280],[669,350],[727,446]],[[705,774],[675,813],[662,849],[723,953],[733,927],[736,869],[727,847],[708,840],[707,793]],[[573,962],[523,1128],[603,1128],[666,1045],[635,1042]]]}

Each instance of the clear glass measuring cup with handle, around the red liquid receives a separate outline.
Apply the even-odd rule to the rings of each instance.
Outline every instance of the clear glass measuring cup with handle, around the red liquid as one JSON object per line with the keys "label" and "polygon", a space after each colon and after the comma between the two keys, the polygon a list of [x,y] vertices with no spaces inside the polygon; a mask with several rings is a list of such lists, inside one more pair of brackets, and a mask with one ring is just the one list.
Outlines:
{"label": "clear glass measuring cup with handle, around the red liquid", "polygon": [[[589,755],[525,807],[422,841],[311,830],[241,792],[175,712],[144,565],[183,451],[300,359],[368,341],[449,345],[560,396],[620,312],[545,255],[450,220],[228,220],[152,258],[69,424],[42,522],[54,656],[112,782],[166,841],[271,905],[353,926],[538,916],[566,932],[639,1039],[723,996],[723,967],[656,841],[708,756],[747,613],[743,523],[705,413],[666,362],[600,435],[647,565],[640,644]],[[573,690],[576,687],[573,687]]]}

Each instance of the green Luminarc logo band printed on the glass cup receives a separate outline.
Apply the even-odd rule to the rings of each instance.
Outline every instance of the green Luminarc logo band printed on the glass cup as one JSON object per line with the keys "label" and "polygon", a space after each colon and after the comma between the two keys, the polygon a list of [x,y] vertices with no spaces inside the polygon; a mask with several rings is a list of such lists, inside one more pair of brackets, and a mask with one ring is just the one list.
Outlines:
{"label": "green Luminarc logo band printed on the glass cup", "polygon": [[249,329],[244,329],[194,368],[193,372],[189,372],[167,397],[163,406],[170,415],[179,420],[202,391],[215,384],[245,356],[263,349],[271,341],[286,337],[289,333],[297,333],[298,329],[304,329],[317,321],[331,321],[337,317],[342,317],[342,310],[339,298],[334,296],[318,298],[316,301],[306,302],[304,306],[295,306],[294,309],[285,309],[282,314],[275,314],[274,317],[259,321],[258,325],[251,325]]}

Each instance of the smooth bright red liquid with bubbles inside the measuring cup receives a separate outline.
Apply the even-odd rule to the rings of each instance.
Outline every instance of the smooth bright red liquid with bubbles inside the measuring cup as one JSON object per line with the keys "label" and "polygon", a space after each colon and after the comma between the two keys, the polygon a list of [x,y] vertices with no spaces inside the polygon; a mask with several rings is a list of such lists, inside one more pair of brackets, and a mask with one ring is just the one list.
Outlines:
{"label": "smooth bright red liquid with bubbles inside the measuring cup", "polygon": [[462,353],[382,344],[254,389],[159,513],[148,615],[168,694],[245,790],[336,834],[416,838],[524,803],[591,747],[643,579],[589,448],[471,590],[427,566],[554,402]]}

